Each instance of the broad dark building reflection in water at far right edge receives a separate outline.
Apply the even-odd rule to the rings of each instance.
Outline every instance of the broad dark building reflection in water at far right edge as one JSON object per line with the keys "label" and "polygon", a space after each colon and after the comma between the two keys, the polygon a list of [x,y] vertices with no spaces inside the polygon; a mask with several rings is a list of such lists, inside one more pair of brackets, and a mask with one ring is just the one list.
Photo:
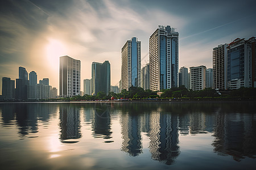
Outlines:
{"label": "broad dark building reflection in water at far right edge", "polygon": [[213,131],[214,152],[231,155],[240,162],[245,156],[256,158],[256,121],[253,114],[216,113],[216,127]]}

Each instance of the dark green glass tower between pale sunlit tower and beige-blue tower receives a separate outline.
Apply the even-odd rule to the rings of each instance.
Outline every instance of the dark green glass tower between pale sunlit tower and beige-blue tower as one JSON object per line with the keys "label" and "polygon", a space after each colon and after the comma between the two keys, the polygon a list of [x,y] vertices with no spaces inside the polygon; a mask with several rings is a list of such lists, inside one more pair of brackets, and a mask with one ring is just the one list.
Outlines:
{"label": "dark green glass tower between pale sunlit tower and beige-blue tower", "polygon": [[92,63],[92,94],[97,95],[98,92],[105,92],[106,95],[110,91],[110,63],[93,62]]}

